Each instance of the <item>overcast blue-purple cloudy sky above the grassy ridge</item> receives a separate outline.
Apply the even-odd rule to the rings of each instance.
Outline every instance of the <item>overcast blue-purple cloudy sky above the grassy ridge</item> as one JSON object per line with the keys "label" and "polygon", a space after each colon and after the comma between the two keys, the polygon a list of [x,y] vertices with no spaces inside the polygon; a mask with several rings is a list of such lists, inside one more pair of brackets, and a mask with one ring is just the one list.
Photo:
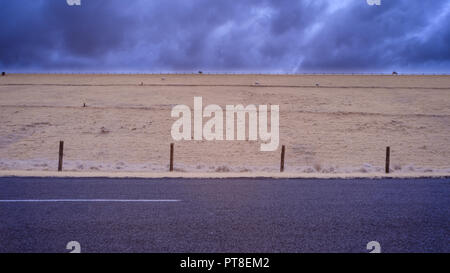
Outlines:
{"label": "overcast blue-purple cloudy sky above the grassy ridge", "polygon": [[0,0],[0,70],[450,73],[450,1]]}

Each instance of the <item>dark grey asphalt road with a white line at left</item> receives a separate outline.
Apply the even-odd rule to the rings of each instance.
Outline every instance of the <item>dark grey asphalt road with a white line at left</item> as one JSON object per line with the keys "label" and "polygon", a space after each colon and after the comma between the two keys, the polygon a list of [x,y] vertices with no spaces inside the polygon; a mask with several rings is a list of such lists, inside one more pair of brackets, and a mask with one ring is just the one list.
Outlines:
{"label": "dark grey asphalt road with a white line at left", "polygon": [[0,178],[0,252],[450,252],[450,179]]}

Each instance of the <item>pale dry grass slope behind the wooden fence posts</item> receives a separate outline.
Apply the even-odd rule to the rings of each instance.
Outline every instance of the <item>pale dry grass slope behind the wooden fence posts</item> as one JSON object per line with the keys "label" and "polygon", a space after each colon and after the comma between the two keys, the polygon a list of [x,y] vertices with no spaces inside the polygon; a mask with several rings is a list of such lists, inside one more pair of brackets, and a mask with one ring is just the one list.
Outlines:
{"label": "pale dry grass slope behind the wooden fence posts", "polygon": [[[450,173],[450,76],[22,75],[0,77],[0,170],[168,169],[177,104],[280,105],[280,147],[175,143],[175,170]],[[83,107],[83,104],[86,107]]]}

